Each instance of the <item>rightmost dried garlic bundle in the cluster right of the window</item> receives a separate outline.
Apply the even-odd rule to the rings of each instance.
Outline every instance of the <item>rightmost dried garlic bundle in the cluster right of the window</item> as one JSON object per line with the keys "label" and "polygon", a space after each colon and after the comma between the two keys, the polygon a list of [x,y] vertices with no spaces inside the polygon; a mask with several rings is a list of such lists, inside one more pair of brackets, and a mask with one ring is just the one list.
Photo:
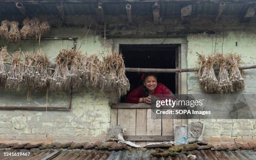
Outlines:
{"label": "rightmost dried garlic bundle in the cluster right of the window", "polygon": [[242,91],[244,89],[243,81],[243,71],[239,70],[239,64],[241,61],[241,56],[237,54],[230,53],[228,55],[228,61],[230,64],[230,81],[232,82],[233,91]]}

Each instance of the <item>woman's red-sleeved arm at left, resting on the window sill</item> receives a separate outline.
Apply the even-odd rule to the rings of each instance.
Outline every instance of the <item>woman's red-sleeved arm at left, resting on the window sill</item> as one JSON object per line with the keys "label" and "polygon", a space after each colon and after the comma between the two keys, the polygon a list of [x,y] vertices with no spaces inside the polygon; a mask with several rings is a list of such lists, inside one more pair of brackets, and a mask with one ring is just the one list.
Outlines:
{"label": "woman's red-sleeved arm at left, resting on the window sill", "polygon": [[125,98],[125,103],[142,103],[142,88],[141,86],[137,87]]}

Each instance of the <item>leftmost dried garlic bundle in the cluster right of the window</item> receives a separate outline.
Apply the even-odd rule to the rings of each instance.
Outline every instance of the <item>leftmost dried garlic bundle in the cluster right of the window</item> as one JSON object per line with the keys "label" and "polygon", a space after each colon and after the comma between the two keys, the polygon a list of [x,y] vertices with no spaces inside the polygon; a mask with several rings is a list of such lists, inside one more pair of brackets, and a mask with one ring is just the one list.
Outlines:
{"label": "leftmost dried garlic bundle in the cluster right of the window", "polygon": [[207,94],[215,93],[218,90],[218,80],[216,79],[213,66],[216,63],[215,56],[208,55],[207,60],[205,56],[200,55],[199,61],[200,70],[202,68],[202,74],[198,72],[200,76],[199,84],[203,91]]}

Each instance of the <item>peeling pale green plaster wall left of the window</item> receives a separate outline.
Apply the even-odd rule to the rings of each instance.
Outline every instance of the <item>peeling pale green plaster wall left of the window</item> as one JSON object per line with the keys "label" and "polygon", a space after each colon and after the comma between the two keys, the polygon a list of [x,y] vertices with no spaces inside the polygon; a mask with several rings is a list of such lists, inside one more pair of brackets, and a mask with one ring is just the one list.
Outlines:
{"label": "peeling pale green plaster wall left of the window", "polygon": [[[52,28],[44,37],[77,37],[77,49],[83,41],[87,28]],[[80,50],[88,55],[104,51],[104,39],[95,36],[90,30]],[[41,50],[49,55],[51,61],[59,50],[72,48],[73,41],[21,41],[19,45],[10,45],[0,41],[0,46],[8,45],[8,52],[20,48],[27,51]],[[112,41],[106,42],[105,52],[112,50]],[[72,95],[70,111],[48,110],[0,110],[0,140],[87,140],[106,139],[110,126],[110,106],[108,95],[94,89],[81,89]],[[0,102],[1,104],[1,102]]]}

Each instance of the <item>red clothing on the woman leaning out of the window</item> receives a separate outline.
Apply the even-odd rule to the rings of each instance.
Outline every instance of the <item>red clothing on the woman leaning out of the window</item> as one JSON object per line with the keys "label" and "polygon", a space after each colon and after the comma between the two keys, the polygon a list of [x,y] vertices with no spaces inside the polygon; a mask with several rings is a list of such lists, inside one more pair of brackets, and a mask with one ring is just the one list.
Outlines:
{"label": "red clothing on the woman leaning out of the window", "polygon": [[[138,103],[140,98],[145,97],[142,90],[143,86],[138,86],[136,89],[131,91],[130,94],[125,98],[125,103]],[[168,89],[164,84],[158,83],[155,91],[152,94],[170,94],[173,95],[172,91]]]}

